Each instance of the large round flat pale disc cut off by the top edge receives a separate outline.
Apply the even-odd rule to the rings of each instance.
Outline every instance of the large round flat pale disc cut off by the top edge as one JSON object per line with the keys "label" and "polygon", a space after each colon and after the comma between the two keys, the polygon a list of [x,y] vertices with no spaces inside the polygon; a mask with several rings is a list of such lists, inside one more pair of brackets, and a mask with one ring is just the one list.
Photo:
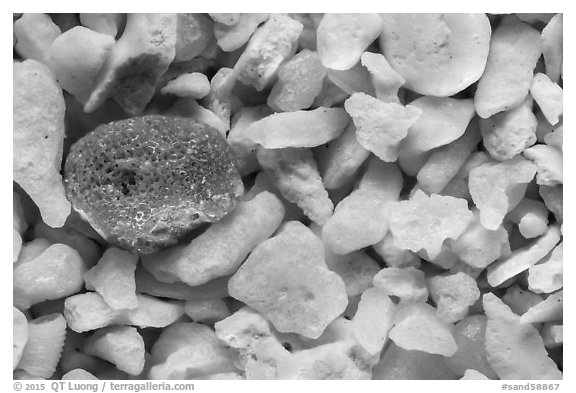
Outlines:
{"label": "large round flat pale disc cut off by the top edge", "polygon": [[382,14],[382,19],[380,47],[408,89],[448,97],[484,72],[491,34],[485,14]]}

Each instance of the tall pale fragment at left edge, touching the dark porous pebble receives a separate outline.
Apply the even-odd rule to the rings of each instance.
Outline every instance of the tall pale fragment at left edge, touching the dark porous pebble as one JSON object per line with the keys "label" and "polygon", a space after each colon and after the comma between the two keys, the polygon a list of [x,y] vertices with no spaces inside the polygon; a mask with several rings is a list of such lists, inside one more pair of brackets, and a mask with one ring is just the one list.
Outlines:
{"label": "tall pale fragment at left edge, touching the dark porous pebble", "polygon": [[13,176],[40,209],[42,220],[61,227],[70,214],[60,167],[64,97],[52,72],[35,60],[14,63]]}

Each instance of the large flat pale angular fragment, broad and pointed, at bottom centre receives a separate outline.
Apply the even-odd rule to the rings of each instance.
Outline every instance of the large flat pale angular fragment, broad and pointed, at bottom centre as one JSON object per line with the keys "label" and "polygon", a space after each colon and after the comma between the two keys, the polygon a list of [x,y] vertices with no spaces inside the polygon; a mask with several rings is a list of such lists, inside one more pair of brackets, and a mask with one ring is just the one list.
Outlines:
{"label": "large flat pale angular fragment, broad and pointed, at bottom centre", "polygon": [[348,303],[344,282],[324,262],[322,242],[296,221],[256,247],[228,290],[280,332],[310,338],[318,338]]}

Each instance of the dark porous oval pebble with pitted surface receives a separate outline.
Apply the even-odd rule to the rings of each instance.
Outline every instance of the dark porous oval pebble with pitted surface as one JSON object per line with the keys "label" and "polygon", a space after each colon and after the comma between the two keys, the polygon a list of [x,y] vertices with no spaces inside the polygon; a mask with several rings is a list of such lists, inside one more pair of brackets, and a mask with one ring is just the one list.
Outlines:
{"label": "dark porous oval pebble with pitted surface", "polygon": [[73,208],[104,239],[137,254],[220,220],[244,192],[224,137],[181,117],[100,125],[72,146],[64,172]]}

